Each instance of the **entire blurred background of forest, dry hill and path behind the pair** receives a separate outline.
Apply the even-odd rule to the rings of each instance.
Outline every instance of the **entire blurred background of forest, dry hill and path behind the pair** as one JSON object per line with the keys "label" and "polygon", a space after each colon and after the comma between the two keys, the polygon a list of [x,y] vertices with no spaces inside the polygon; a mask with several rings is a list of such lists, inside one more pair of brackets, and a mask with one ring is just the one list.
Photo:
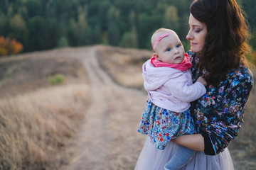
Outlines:
{"label": "entire blurred background of forest, dry hill and path behind the pair", "polygon": [[[247,58],[256,75],[256,1],[237,1],[250,24],[252,52]],[[137,126],[146,98],[141,68],[151,57],[151,34],[171,28],[189,50],[190,4],[0,0],[0,170],[66,169],[81,157],[81,150],[86,157],[80,166],[85,169],[134,169],[144,145]],[[99,95],[92,93],[94,88]],[[256,169],[255,101],[253,88],[245,123],[228,146],[235,169]],[[93,122],[95,113],[88,108],[95,105],[102,110],[95,116],[104,122],[95,125],[102,128],[102,138],[95,137],[90,124],[86,132],[80,130]]]}

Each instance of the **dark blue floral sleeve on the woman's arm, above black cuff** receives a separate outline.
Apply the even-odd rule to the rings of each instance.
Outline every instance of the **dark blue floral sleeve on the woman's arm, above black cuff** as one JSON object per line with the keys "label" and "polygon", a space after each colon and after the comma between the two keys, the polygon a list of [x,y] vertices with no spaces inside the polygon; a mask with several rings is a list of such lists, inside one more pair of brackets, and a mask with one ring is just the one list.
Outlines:
{"label": "dark blue floral sleeve on the woman's arm, above black cuff", "polygon": [[[218,95],[215,98],[217,107],[206,114],[210,120],[205,130],[208,132],[215,154],[221,152],[228,146],[230,140],[238,135],[238,129],[243,123],[245,103],[252,88],[252,77],[249,75],[241,78],[233,73],[231,76],[235,78],[230,79],[232,82],[229,86],[227,84],[218,89]],[[199,126],[200,123],[199,121]]]}

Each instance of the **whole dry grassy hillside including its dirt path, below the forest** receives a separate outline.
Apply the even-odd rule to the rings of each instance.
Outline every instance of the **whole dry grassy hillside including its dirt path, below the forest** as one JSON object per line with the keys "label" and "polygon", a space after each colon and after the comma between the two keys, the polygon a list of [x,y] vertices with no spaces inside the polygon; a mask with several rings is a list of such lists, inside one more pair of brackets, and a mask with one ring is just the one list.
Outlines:
{"label": "whole dry grassy hillside including its dirt path, below the forest", "polygon": [[[92,55],[91,48],[95,53],[90,57],[95,57],[99,66],[92,61],[92,66],[88,67],[89,60],[80,57]],[[70,165],[82,154],[85,154],[87,169],[102,169],[102,166],[133,169],[144,143],[144,137],[137,134],[136,125],[146,96],[142,90],[142,64],[150,57],[151,52],[146,50],[100,45],[1,58],[0,169],[82,169],[82,165]],[[100,72],[95,72],[97,69]],[[50,85],[48,78],[55,74],[62,74],[65,81]],[[126,96],[122,96],[122,91]],[[229,145],[237,170],[256,169],[255,101],[254,88],[247,103],[245,123]],[[103,115],[96,117],[106,122],[97,125],[97,119],[90,118],[90,114],[94,114],[91,105],[103,110]],[[88,126],[84,126],[85,123]],[[95,133],[87,132],[93,125],[106,131],[99,136],[88,136]],[[123,128],[120,129],[120,125]],[[86,139],[78,142],[80,135]],[[97,141],[97,137],[103,138]],[[101,147],[104,142],[107,142],[105,153]],[[77,149],[75,145],[85,148]],[[92,150],[95,152],[92,155],[90,149],[95,146],[99,149]],[[76,156],[79,149],[86,153]],[[94,157],[105,162],[100,166]]]}

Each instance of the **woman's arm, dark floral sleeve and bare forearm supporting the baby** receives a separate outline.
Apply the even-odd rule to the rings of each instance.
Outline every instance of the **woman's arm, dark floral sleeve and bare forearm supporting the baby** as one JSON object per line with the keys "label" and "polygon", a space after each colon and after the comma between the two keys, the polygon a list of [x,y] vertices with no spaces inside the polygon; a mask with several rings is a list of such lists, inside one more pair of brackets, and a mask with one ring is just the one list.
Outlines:
{"label": "woman's arm, dark floral sleeve and bare forearm supporting the baby", "polygon": [[[203,151],[208,155],[222,152],[230,140],[238,135],[238,129],[242,125],[245,103],[253,84],[252,77],[244,74],[243,78],[236,77],[231,81],[230,87],[226,91],[222,91],[221,101],[217,100],[220,103],[218,108],[212,110],[213,112],[210,114],[213,118],[206,122],[207,132],[182,135],[177,137],[174,142],[190,149]],[[221,96],[221,94],[219,95]]]}

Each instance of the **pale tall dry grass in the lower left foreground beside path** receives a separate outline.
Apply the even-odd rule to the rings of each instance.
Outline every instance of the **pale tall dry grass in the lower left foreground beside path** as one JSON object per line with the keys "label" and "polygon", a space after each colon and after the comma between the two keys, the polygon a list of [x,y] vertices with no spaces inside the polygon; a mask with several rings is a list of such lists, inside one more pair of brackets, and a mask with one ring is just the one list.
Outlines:
{"label": "pale tall dry grass in the lower left foreground beside path", "polygon": [[0,169],[57,169],[65,164],[65,157],[58,157],[84,118],[88,97],[88,86],[78,84],[1,100]]}

